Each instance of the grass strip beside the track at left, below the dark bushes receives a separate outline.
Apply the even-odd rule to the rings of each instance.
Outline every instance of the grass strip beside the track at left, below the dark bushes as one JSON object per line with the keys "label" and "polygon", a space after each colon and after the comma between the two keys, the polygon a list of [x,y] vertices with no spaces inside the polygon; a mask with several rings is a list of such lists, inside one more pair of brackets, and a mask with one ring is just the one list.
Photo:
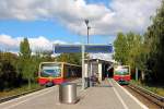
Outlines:
{"label": "grass strip beside the track at left, below the dark bushes", "polygon": [[43,88],[43,86],[40,86],[37,83],[32,83],[31,88],[28,88],[28,85],[26,84],[26,85],[23,85],[21,87],[8,89],[8,90],[5,89],[3,92],[0,92],[0,98],[9,97],[12,95],[17,95],[17,94],[22,94],[22,93],[30,92],[33,89],[39,89],[39,88]]}

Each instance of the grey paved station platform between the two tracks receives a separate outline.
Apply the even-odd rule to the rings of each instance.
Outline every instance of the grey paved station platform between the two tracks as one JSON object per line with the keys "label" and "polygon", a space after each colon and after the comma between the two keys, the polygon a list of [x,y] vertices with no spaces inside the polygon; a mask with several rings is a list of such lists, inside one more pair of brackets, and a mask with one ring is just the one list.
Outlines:
{"label": "grey paved station platform between the two tracks", "polygon": [[54,86],[0,104],[0,109],[148,109],[113,78],[84,90],[81,82],[75,83],[80,98],[77,104],[60,104],[58,86]]}

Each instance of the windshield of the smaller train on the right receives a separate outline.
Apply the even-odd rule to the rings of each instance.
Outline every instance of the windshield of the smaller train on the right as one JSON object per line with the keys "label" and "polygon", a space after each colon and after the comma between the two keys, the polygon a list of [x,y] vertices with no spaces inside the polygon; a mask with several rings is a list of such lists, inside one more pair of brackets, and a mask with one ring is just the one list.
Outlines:
{"label": "windshield of the smaller train on the right", "polygon": [[115,74],[128,75],[129,74],[129,68],[128,66],[118,66],[115,69]]}

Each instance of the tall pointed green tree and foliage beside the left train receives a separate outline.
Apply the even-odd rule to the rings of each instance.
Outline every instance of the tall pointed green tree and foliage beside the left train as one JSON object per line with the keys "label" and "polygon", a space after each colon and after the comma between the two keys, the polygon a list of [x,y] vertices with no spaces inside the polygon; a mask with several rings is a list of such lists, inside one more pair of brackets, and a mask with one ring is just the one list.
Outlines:
{"label": "tall pointed green tree and foliage beside the left train", "polygon": [[27,38],[20,44],[19,72],[23,78],[27,80],[31,88],[31,82],[35,80],[38,65],[42,61],[51,61],[51,51],[36,51],[35,56],[31,56],[32,51]]}

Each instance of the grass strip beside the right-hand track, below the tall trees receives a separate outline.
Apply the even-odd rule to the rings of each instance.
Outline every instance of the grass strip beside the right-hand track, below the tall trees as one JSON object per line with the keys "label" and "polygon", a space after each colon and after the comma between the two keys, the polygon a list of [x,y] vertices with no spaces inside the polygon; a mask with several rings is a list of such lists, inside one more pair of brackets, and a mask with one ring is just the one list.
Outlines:
{"label": "grass strip beside the right-hand track, below the tall trees", "polygon": [[136,85],[139,85],[145,89],[149,89],[157,95],[161,95],[161,96],[164,96],[164,86],[161,86],[161,85],[154,85],[154,84],[143,84],[141,83],[140,81],[134,81],[134,80],[131,80],[132,84],[136,84]]}

